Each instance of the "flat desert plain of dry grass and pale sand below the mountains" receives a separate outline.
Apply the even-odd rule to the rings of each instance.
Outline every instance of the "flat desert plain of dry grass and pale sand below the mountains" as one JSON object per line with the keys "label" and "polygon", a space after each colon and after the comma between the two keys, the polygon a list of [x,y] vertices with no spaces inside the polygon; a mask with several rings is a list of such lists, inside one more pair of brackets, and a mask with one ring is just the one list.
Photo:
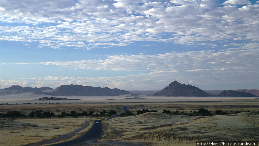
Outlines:
{"label": "flat desert plain of dry grass and pale sand below the mountains", "polygon": [[[77,97],[73,97],[77,98]],[[114,100],[107,100],[112,99]],[[51,145],[76,139],[85,134],[95,120],[102,120],[102,135],[87,145],[195,145],[195,141],[258,141],[259,100],[254,98],[212,97],[96,97],[84,100],[60,101],[12,100],[0,101],[0,113],[19,111],[55,112],[115,110],[123,112],[126,106],[134,115],[106,119],[103,117],[17,117],[0,118],[0,145]],[[14,104],[19,102],[19,104]],[[30,102],[31,104],[20,104]],[[48,103],[51,104],[48,104]],[[35,104],[36,103],[36,104]],[[40,104],[43,103],[43,104]],[[45,104],[47,103],[47,104]],[[211,115],[197,115],[200,108]],[[156,110],[137,115],[138,110]],[[163,110],[179,114],[162,113]],[[216,114],[216,110],[226,115]],[[240,111],[241,113],[236,113]],[[243,111],[243,112],[242,112]],[[246,112],[250,111],[250,112]]]}

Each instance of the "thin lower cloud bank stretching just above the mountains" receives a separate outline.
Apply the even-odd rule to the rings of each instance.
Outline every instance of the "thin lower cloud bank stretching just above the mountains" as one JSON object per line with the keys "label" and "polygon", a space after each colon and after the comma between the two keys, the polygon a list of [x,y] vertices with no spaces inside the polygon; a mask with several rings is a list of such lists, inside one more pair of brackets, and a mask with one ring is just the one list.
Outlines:
{"label": "thin lower cloud bank stretching just above the mountains", "polygon": [[[120,89],[158,89],[177,80],[205,87],[208,85],[258,82],[259,49],[231,49],[172,52],[157,55],[113,55],[103,60],[14,63],[15,65],[55,65],[62,68],[109,71],[141,71],[138,74],[111,77],[46,76],[22,80],[1,80],[2,87],[58,87],[80,84]],[[157,82],[165,81],[165,82]],[[191,83],[190,82],[190,83]],[[154,84],[156,83],[156,87]]]}

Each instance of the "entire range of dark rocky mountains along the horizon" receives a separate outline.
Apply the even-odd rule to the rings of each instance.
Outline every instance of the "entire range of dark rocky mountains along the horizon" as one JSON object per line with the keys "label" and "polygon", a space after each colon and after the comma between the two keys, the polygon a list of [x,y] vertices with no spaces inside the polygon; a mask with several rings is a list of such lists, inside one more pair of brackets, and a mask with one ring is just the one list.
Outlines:
{"label": "entire range of dark rocky mountains along the horizon", "polygon": [[[174,81],[170,83],[164,89],[157,91],[148,91],[148,93],[153,92],[153,96],[194,96],[194,97],[207,97],[207,96],[220,96],[220,97],[258,97],[252,93],[259,93],[259,90],[247,90],[240,89],[238,91],[233,90],[210,90],[209,93],[195,87],[192,85],[185,85]],[[143,93],[147,93],[142,91]],[[9,88],[0,89],[0,95],[10,95],[10,94],[21,94],[21,93],[32,93],[35,95],[50,95],[50,96],[119,96],[125,94],[133,93],[120,89],[110,89],[108,87],[92,87],[92,86],[82,86],[82,85],[61,85],[56,89],[50,87],[32,88],[32,87],[21,87],[19,85],[14,85]],[[213,93],[213,94],[210,94]],[[140,95],[138,93],[138,95]]]}

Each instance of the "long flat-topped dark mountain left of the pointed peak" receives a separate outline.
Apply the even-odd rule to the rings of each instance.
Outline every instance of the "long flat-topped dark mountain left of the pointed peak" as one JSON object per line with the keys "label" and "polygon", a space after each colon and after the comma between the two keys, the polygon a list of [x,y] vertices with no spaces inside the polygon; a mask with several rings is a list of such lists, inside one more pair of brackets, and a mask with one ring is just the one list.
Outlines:
{"label": "long flat-topped dark mountain left of the pointed peak", "polygon": [[129,91],[120,89],[110,89],[108,87],[92,87],[82,85],[61,85],[54,89],[53,92],[38,91],[33,94],[45,94],[52,96],[119,96],[131,94]]}

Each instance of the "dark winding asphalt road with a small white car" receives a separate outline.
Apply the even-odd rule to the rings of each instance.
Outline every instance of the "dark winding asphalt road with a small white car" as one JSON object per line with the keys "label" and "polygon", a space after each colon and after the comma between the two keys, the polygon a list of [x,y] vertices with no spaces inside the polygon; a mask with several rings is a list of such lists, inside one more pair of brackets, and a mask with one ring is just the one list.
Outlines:
{"label": "dark winding asphalt road with a small white car", "polygon": [[[126,113],[128,110],[127,106],[123,106],[123,110]],[[112,118],[115,118],[118,116],[119,115],[115,115],[115,116],[107,118],[107,119],[112,119]],[[106,119],[102,119],[102,120],[106,120]],[[87,144],[87,141],[89,141],[89,142],[94,141],[102,134],[102,120],[96,120],[94,125],[92,126],[92,128],[84,136],[77,138],[75,140],[72,140],[72,141],[58,143],[58,144],[54,144],[51,146],[67,146],[67,145],[80,145],[80,144],[83,145],[83,144]]]}

